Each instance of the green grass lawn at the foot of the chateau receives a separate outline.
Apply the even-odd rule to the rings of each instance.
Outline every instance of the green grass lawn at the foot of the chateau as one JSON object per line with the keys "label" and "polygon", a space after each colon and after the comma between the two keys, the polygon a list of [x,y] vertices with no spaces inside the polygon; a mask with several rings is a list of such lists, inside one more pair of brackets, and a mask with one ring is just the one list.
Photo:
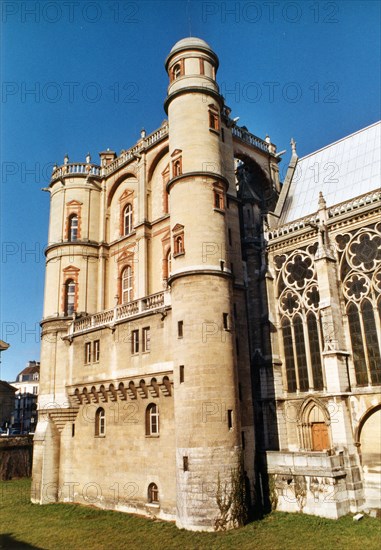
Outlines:
{"label": "green grass lawn at the foot of the chateau", "polygon": [[193,533],[173,523],[74,504],[29,502],[30,480],[0,482],[0,548],[45,550],[379,550],[381,522],[276,512],[235,531]]}

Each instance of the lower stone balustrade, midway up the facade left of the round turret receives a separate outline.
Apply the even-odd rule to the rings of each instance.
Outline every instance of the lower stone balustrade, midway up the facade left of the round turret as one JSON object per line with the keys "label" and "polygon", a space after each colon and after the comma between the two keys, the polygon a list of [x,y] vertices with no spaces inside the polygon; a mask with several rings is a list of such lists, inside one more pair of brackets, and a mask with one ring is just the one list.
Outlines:
{"label": "lower stone balustrade, midway up the facade left of the round turret", "polygon": [[106,311],[101,311],[100,313],[94,313],[93,315],[75,319],[69,327],[68,337],[82,334],[96,328],[111,327],[124,319],[137,317],[144,313],[163,310],[164,308],[167,309],[170,307],[171,295],[169,291],[151,294],[144,298],[139,298],[139,300],[134,300],[133,302],[121,304]]}

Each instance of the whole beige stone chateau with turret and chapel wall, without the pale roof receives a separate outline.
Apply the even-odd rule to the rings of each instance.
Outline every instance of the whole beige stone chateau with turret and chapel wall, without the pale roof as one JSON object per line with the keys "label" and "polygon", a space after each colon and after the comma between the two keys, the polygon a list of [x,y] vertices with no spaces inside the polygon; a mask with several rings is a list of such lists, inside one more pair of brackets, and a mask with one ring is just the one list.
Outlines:
{"label": "whole beige stone chateau with turret and chapel wall, without the pale roof", "polygon": [[381,508],[380,124],[292,140],[281,182],[206,42],[165,68],[168,120],[46,188],[32,500],[193,530]]}

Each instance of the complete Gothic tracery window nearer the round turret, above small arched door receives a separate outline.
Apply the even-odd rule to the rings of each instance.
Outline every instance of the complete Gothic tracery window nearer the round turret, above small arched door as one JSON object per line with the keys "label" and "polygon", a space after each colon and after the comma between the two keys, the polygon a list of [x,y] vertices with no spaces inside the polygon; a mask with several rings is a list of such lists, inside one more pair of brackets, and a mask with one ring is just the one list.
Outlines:
{"label": "complete Gothic tracery window nearer the round turret, above small arched door", "polygon": [[289,392],[324,389],[315,245],[275,258],[285,378]]}

